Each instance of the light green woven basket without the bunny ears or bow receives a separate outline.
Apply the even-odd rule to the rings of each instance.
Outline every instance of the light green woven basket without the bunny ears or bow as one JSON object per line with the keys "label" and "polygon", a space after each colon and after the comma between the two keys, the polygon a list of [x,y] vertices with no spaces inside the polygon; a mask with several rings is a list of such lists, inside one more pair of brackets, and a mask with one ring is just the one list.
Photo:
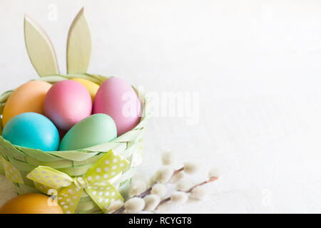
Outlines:
{"label": "light green woven basket without the bunny ears or bow", "polygon": [[[75,75],[56,75],[41,77],[36,80],[46,81],[54,84],[58,81],[63,81],[74,77]],[[98,84],[101,84],[107,79],[103,76],[91,74],[81,74],[76,75],[76,77],[86,78]],[[11,163],[11,165],[14,165],[14,167],[21,172],[25,183],[24,185],[14,183],[16,192],[19,195],[30,192],[39,192],[34,187],[34,182],[26,178],[26,175],[39,165],[52,167],[58,171],[65,172],[71,177],[79,177],[85,175],[91,166],[101,156],[108,152],[108,150],[112,149],[130,162],[130,165],[126,167],[126,170],[124,170],[123,173],[116,178],[116,180],[111,182],[116,187],[118,192],[120,192],[123,197],[126,197],[128,187],[131,183],[131,177],[136,170],[136,166],[141,162],[143,133],[145,132],[149,118],[146,98],[142,93],[136,90],[136,88],[134,88],[134,90],[136,91],[138,98],[140,98],[141,105],[143,107],[143,116],[141,118],[141,122],[136,126],[136,128],[133,128],[133,130],[119,136],[112,142],[95,145],[83,150],[44,152],[42,150],[12,145],[9,141],[0,136],[0,154],[3,155],[6,160]],[[0,96],[0,114],[2,114],[4,104],[13,91],[14,90],[9,90]],[[0,126],[0,130],[2,131],[2,126]],[[87,195],[86,191],[83,191],[83,195],[78,202],[75,213],[99,212],[102,212],[101,209],[99,209],[91,197]]]}

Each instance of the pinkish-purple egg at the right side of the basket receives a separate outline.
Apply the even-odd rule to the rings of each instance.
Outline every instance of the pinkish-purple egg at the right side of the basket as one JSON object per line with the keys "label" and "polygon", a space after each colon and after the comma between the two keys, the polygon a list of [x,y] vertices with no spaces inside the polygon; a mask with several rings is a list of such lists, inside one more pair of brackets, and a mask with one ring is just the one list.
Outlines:
{"label": "pinkish-purple egg at the right side of the basket", "polygon": [[93,113],[110,115],[119,136],[138,125],[141,103],[131,85],[121,78],[110,78],[101,84],[96,93]]}

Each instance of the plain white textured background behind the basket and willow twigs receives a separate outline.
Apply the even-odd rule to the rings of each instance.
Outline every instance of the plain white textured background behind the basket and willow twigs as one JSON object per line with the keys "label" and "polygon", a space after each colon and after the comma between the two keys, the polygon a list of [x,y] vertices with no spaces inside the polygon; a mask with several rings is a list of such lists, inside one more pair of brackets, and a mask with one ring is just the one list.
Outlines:
{"label": "plain white textured background behind the basket and willow twigs", "polygon": [[[57,20],[50,20],[52,4]],[[81,6],[91,25],[89,72],[146,91],[197,92],[198,123],[155,117],[141,177],[165,148],[222,177],[204,202],[170,213],[321,212],[321,1],[0,0],[0,90],[36,77],[24,13],[49,33],[66,72],[68,26]],[[0,179],[0,204],[12,197]]]}

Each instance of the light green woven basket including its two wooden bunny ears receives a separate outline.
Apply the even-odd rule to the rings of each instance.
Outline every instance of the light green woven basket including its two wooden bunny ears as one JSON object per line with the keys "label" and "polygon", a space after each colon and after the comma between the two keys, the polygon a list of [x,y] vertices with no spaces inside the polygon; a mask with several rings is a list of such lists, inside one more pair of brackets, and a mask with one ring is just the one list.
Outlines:
{"label": "light green woven basket including its two wooden bunny ears", "polygon": [[[103,81],[108,79],[108,77],[86,73],[91,56],[91,34],[83,14],[83,9],[81,9],[73,20],[69,29],[67,41],[68,74],[66,76],[59,73],[56,53],[48,35],[44,32],[44,29],[29,16],[25,16],[24,33],[26,48],[31,63],[40,76],[35,79],[36,81],[46,81],[54,84],[58,81],[71,78],[85,78],[101,85]],[[133,89],[136,91],[141,102],[141,122],[138,123],[133,130],[119,136],[112,142],[106,142],[82,150],[44,152],[42,150],[12,145],[0,136],[0,154],[20,171],[24,182],[24,184],[14,182],[16,192],[19,195],[39,192],[36,190],[34,182],[26,178],[26,175],[39,165],[54,168],[66,173],[70,177],[82,177],[106,152],[113,150],[116,154],[125,157],[129,162],[129,165],[120,175],[109,180],[118,192],[120,192],[123,197],[126,197],[136,166],[139,165],[142,160],[143,134],[148,123],[148,118],[150,117],[148,101],[145,95],[135,87],[133,87]],[[0,96],[0,115],[4,110],[6,100],[13,92],[14,90],[9,90]],[[1,132],[2,125],[0,121],[0,133]],[[3,167],[0,165],[0,172],[1,171],[3,171]],[[101,212],[102,210],[93,202],[86,191],[83,191],[75,213]]]}

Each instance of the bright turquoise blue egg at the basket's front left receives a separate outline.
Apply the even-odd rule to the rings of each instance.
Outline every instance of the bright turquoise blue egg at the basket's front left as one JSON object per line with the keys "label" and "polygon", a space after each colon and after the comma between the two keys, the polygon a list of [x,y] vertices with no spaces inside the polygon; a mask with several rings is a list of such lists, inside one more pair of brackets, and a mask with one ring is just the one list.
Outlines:
{"label": "bright turquoise blue egg at the basket's front left", "polygon": [[44,151],[58,149],[59,134],[54,123],[39,113],[21,113],[11,118],[2,137],[14,145]]}

